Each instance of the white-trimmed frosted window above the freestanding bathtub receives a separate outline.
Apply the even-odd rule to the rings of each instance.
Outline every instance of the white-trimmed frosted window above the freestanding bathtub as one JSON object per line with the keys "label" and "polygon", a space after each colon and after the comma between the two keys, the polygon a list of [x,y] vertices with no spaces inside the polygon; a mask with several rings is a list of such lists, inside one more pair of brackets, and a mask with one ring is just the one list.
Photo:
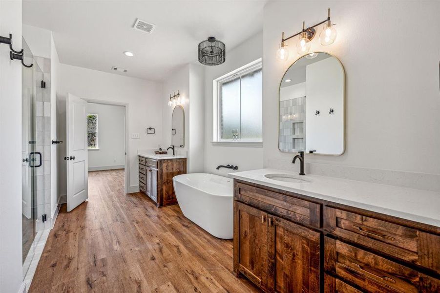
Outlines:
{"label": "white-trimmed frosted window above the freestanding bathtub", "polygon": [[262,142],[261,59],[214,80],[214,142]]}

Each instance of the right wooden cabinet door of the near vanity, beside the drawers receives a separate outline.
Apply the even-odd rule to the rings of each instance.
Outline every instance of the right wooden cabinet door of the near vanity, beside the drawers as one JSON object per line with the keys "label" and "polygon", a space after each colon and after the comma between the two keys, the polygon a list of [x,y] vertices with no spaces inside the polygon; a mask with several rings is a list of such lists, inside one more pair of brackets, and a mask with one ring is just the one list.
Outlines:
{"label": "right wooden cabinet door of the near vanity, beside the drawers", "polygon": [[269,215],[268,291],[319,292],[320,233]]}

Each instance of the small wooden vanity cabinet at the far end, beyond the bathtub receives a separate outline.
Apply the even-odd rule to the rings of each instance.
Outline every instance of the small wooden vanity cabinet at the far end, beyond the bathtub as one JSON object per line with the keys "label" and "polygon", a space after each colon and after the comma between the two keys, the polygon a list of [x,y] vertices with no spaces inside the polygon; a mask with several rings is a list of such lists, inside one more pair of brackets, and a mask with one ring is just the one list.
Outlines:
{"label": "small wooden vanity cabinet at the far end, beyond the bathtub", "polygon": [[177,204],[172,178],[187,172],[187,159],[154,160],[139,157],[139,190],[157,207]]}

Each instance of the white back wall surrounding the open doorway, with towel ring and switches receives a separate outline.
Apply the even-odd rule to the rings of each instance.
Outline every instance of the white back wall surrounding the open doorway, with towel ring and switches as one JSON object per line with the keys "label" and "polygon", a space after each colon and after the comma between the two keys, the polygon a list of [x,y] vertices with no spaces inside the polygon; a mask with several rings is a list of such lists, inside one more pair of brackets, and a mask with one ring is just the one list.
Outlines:
{"label": "white back wall surrounding the open doorway, with towel ring and switches", "polygon": [[[138,149],[156,148],[162,140],[162,84],[117,74],[60,65],[58,85],[58,136],[65,141],[65,98],[72,93],[80,98],[128,104],[129,192],[139,190]],[[156,134],[147,134],[147,127],[156,128]],[[132,139],[139,133],[139,139]],[[58,188],[66,193],[65,146],[58,149]]]}

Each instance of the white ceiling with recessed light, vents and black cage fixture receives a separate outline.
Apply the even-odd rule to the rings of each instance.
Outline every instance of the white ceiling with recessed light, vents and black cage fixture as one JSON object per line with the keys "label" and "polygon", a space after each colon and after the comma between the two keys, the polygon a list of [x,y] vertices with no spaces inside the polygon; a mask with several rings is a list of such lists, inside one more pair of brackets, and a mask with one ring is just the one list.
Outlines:
{"label": "white ceiling with recessed light, vents and black cage fixture", "polygon": [[[214,36],[228,50],[262,30],[266,0],[23,0],[23,23],[53,31],[61,63],[162,81],[197,62],[197,45]],[[155,24],[152,34],[132,28]],[[134,57],[123,52],[131,51]]]}

